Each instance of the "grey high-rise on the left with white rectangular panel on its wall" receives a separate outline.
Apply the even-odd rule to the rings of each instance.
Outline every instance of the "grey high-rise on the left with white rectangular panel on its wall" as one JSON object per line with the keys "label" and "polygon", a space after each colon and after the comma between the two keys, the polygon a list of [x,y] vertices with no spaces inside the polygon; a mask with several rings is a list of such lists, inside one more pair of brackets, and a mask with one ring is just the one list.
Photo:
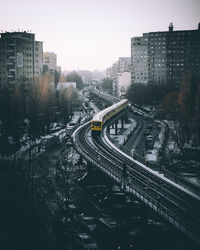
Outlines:
{"label": "grey high-rise on the left with white rectangular panel on its wall", "polygon": [[32,80],[42,73],[43,42],[35,34],[5,32],[0,38],[0,83]]}

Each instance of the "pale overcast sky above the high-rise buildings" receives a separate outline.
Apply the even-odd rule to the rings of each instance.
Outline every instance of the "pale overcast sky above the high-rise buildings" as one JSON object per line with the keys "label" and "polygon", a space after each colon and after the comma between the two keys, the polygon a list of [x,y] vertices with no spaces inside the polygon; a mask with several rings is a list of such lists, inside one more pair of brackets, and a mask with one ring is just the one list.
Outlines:
{"label": "pale overcast sky above the high-rise buildings", "polygon": [[0,30],[31,30],[63,70],[105,69],[130,56],[130,39],[197,29],[200,0],[0,0]]}

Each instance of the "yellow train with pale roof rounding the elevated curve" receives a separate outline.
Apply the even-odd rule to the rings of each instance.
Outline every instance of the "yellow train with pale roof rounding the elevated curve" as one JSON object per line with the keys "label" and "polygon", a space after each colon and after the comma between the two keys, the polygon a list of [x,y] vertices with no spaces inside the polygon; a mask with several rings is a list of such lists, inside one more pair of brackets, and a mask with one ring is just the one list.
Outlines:
{"label": "yellow train with pale roof rounding the elevated curve", "polygon": [[91,121],[91,130],[92,131],[101,131],[103,128],[104,123],[109,120],[114,115],[118,114],[128,106],[128,100],[123,99],[118,103],[115,103],[114,105],[101,110],[99,113],[94,115],[92,121]]}

